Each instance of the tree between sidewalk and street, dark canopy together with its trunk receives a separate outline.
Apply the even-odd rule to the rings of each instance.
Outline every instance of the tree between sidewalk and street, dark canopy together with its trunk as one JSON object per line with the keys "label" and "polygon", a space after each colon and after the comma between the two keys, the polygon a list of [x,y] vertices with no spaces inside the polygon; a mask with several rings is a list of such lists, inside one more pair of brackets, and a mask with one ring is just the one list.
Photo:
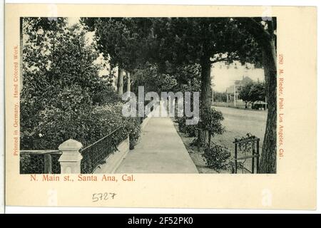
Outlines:
{"label": "tree between sidewalk and street, dark canopy together with its trunk", "polygon": [[[200,118],[210,108],[212,64],[259,63],[260,52],[253,37],[231,18],[161,18],[154,19],[153,38],[158,62],[175,65],[200,65]],[[205,140],[205,135],[200,135]]]}

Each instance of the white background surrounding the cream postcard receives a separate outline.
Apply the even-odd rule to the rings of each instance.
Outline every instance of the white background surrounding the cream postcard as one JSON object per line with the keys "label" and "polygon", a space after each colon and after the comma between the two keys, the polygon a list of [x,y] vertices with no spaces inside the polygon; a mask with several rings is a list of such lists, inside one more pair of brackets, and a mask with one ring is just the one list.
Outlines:
{"label": "white background surrounding the cream postcard", "polygon": [[[317,37],[320,39],[320,1],[317,0],[283,0],[283,1],[263,1],[263,0],[222,0],[222,1],[210,1],[210,0],[118,0],[118,1],[98,1],[98,0],[64,0],[64,1],[19,1],[19,0],[7,0],[6,3],[53,3],[53,4],[186,4],[186,5],[258,5],[258,6],[318,6],[317,8]],[[86,207],[5,207],[4,208],[4,4],[0,5],[0,212],[6,213],[320,213],[321,212],[321,197],[317,197],[317,211],[285,211],[285,210],[259,210],[259,209],[151,209],[151,208],[86,208]],[[317,56],[320,56],[320,46],[317,46]],[[320,61],[318,61],[317,68],[320,68]],[[320,73],[317,73],[318,78]],[[317,81],[317,113],[320,113],[320,80]],[[318,115],[320,117],[320,115]],[[317,121],[317,141],[321,141],[320,136],[320,121]],[[320,146],[317,145],[317,152],[320,152]],[[317,156],[317,174],[320,174],[320,156]],[[317,181],[317,190],[320,190],[320,178]]]}

